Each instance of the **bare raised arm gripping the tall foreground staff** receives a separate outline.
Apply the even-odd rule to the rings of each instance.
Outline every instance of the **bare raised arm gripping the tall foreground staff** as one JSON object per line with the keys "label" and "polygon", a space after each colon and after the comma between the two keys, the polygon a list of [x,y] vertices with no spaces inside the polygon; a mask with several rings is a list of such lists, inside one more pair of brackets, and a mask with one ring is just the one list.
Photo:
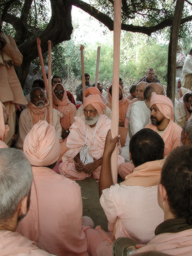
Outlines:
{"label": "bare raised arm gripping the tall foreground staff", "polygon": [[116,136],[114,139],[111,137],[111,130],[108,131],[106,136],[106,144],[104,147],[104,154],[102,157],[102,166],[100,171],[99,179],[99,196],[102,195],[103,189],[110,188],[113,185],[112,175],[111,175],[111,155],[115,149],[116,143],[118,142],[120,136]]}

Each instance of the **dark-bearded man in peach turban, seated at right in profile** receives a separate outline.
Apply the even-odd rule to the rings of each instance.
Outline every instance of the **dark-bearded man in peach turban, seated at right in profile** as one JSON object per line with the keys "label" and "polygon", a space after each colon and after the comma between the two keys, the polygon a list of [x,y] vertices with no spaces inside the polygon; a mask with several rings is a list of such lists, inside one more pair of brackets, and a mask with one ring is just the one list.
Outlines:
{"label": "dark-bearded man in peach turban, seated at right in profile", "polygon": [[145,128],[156,131],[164,140],[164,157],[180,145],[181,127],[173,122],[173,103],[164,95],[153,92],[150,99],[151,124]]}

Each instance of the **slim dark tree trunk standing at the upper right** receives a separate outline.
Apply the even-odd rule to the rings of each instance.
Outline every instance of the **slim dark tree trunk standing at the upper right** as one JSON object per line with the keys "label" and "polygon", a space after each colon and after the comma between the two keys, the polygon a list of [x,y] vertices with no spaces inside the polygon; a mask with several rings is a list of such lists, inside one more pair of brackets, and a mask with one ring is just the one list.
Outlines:
{"label": "slim dark tree trunk standing at the upper right", "polygon": [[172,30],[170,35],[170,44],[168,49],[167,96],[170,99],[172,99],[173,105],[175,104],[177,41],[178,41],[180,20],[182,18],[183,8],[184,8],[184,0],[177,0],[176,6],[175,6],[175,14],[173,17]]}

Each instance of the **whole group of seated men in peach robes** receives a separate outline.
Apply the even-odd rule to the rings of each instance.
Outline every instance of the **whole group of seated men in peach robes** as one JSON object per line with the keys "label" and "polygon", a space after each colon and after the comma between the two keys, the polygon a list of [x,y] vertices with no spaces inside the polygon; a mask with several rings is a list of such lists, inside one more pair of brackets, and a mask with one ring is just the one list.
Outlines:
{"label": "whole group of seated men in peach robes", "polygon": [[[192,255],[192,120],[183,130],[173,122],[172,100],[154,81],[153,68],[143,79],[134,86],[132,100],[119,86],[124,147],[119,136],[111,136],[111,86],[106,104],[99,86],[88,86],[76,111],[55,76],[51,116],[44,88],[35,85],[19,118],[16,146],[23,152],[3,142],[9,127],[0,103],[3,255],[122,255],[125,248],[134,255],[151,250]],[[116,143],[120,184],[113,184],[111,175]],[[83,216],[81,189],[74,180],[90,176],[99,179],[108,232]]]}

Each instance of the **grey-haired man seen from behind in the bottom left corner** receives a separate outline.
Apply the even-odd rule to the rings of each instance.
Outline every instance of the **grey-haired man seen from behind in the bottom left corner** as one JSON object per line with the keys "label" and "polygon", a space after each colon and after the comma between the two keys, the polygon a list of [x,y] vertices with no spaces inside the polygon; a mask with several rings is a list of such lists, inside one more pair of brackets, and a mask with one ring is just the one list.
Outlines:
{"label": "grey-haired man seen from behind in the bottom left corner", "polygon": [[33,173],[21,150],[0,149],[0,252],[12,256],[51,256],[36,243],[15,232],[30,205]]}

